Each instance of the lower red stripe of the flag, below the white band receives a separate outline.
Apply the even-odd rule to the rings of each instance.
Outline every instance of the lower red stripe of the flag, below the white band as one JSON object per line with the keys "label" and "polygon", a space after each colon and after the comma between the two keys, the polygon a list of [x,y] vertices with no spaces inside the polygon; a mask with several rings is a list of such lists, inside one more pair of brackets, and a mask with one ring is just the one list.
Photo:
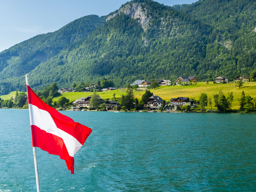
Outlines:
{"label": "lower red stripe of the flag, below the white band", "polygon": [[65,143],[60,137],[47,133],[35,125],[31,125],[31,132],[33,147],[39,147],[52,155],[59,155],[66,161],[68,170],[74,174],[74,157],[69,156]]}

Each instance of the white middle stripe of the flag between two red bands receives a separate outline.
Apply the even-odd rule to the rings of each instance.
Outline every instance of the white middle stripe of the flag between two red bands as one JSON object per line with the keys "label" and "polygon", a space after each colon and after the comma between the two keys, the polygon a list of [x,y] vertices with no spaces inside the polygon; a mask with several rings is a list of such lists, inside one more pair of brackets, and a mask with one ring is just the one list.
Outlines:
{"label": "white middle stripe of the flag between two red bands", "polygon": [[36,125],[41,130],[62,138],[69,156],[74,157],[75,153],[82,147],[81,143],[72,135],[59,129],[54,123],[52,116],[46,110],[39,109],[38,107],[29,104],[29,112],[30,125]]}

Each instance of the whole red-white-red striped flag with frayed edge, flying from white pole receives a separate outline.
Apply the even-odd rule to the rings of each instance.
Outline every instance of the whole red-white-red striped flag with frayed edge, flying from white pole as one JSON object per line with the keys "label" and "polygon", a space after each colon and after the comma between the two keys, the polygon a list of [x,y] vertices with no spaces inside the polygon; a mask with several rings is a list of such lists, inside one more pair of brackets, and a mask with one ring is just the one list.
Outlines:
{"label": "whole red-white-red striped flag with frayed edge, flying from white pole", "polygon": [[74,174],[74,155],[92,130],[44,103],[27,85],[32,146],[59,155]]}

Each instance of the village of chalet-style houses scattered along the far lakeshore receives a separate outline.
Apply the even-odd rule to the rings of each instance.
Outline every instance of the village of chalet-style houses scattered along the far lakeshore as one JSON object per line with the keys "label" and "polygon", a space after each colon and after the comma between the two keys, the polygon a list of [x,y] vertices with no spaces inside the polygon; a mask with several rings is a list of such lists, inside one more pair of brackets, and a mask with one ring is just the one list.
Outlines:
{"label": "village of chalet-style houses scattered along the far lakeshore", "polygon": [[[195,76],[180,76],[177,78],[176,81],[173,83],[170,80],[166,79],[155,79],[158,83],[158,86],[171,86],[171,85],[178,85],[178,86],[186,86],[190,84],[196,84],[197,78]],[[237,76],[234,79],[234,82],[241,81],[243,83],[250,82],[251,79],[248,76]],[[256,81],[256,75],[252,78],[252,81]],[[209,81],[205,80],[205,83],[208,84]],[[215,77],[215,82],[213,83],[230,83],[228,81],[227,77],[224,76],[217,76]],[[130,84],[131,87],[138,90],[147,90],[151,86],[151,81],[147,81],[145,79],[137,80],[134,83]],[[108,87],[105,89],[99,90],[97,88],[97,84],[93,84],[91,87],[85,87],[82,88],[83,92],[106,92],[106,91],[113,91],[116,90],[114,87]],[[60,93],[67,93],[67,92],[76,92],[74,88],[62,88],[58,92]],[[92,98],[92,95],[88,97],[82,97],[80,99],[75,100],[72,104],[71,110],[86,110],[90,108],[90,100]],[[122,109],[121,103],[118,103],[117,100],[103,100],[99,95],[98,99],[100,100],[100,104],[105,103],[105,109],[106,111],[109,110],[120,110]],[[197,103],[194,99],[190,99],[188,97],[183,97],[183,95],[180,95],[178,98],[170,98],[170,100],[163,100],[158,95],[151,95],[151,97],[147,98],[146,102],[143,103],[143,106],[138,105],[138,103],[133,102],[133,106],[137,109],[140,109],[138,111],[163,111],[163,112],[171,112],[171,111],[179,111],[182,110],[183,106],[189,106],[189,108],[193,109],[197,106]],[[138,107],[137,107],[138,106]]]}

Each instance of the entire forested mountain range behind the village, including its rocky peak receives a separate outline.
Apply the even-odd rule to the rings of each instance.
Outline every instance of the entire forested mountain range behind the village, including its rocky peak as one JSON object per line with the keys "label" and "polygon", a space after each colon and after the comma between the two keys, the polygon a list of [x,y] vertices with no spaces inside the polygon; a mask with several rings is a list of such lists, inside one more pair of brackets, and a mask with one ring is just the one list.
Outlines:
{"label": "entire forested mountain range behind the village, including its rocky peak", "polygon": [[[133,0],[106,17],[89,15],[0,53],[0,94],[111,79],[256,75],[256,1],[205,0],[164,6]],[[108,19],[107,19],[108,18]]]}

